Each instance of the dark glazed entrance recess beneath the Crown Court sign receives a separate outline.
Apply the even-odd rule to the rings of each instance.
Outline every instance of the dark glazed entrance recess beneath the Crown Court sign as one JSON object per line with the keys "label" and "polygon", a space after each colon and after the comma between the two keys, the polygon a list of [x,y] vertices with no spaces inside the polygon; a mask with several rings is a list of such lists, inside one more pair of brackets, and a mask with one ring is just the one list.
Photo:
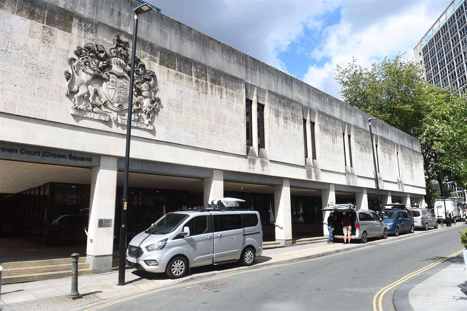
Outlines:
{"label": "dark glazed entrance recess beneath the Crown Court sign", "polygon": [[86,241],[90,185],[49,182],[0,199],[0,237],[44,246]]}

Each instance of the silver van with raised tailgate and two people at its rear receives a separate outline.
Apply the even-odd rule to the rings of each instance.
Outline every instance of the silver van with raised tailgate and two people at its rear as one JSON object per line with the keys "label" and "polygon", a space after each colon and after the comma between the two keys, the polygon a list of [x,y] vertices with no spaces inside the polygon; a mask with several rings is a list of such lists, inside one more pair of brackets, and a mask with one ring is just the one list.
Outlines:
{"label": "silver van with raised tailgate and two people at its rear", "polygon": [[334,204],[324,208],[334,214],[334,240],[344,239],[341,217],[346,212],[350,215],[352,223],[352,233],[350,239],[360,240],[361,243],[367,243],[368,238],[388,238],[388,229],[373,210],[356,210],[352,204]]}

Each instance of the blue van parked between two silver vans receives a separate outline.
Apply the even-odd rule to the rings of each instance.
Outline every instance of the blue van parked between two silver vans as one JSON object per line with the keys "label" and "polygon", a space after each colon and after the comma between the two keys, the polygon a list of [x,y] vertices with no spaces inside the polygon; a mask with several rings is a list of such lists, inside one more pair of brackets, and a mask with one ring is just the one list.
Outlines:
{"label": "blue van parked between two silver vans", "polygon": [[396,237],[400,233],[413,233],[415,230],[413,214],[404,204],[394,203],[384,205],[382,219],[388,225],[388,233],[394,234]]}

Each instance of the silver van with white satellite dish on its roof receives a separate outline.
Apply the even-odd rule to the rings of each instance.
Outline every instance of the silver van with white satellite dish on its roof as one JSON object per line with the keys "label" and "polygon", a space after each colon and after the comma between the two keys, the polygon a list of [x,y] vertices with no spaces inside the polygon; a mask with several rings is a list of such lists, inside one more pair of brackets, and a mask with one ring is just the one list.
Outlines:
{"label": "silver van with white satellite dish on its roof", "polygon": [[127,264],[148,272],[181,278],[189,268],[239,261],[251,266],[262,254],[262,226],[257,211],[238,209],[244,200],[220,198],[203,210],[164,215],[136,235]]}

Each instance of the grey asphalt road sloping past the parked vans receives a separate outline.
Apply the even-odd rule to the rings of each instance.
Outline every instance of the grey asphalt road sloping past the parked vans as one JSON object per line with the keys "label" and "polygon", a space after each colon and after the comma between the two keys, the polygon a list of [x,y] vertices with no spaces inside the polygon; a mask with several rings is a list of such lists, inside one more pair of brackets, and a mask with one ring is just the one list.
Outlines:
{"label": "grey asphalt road sloping past the parked vans", "polygon": [[[167,289],[101,310],[373,310],[380,289],[462,249],[461,229]],[[394,310],[395,289],[384,295],[383,310]]]}

